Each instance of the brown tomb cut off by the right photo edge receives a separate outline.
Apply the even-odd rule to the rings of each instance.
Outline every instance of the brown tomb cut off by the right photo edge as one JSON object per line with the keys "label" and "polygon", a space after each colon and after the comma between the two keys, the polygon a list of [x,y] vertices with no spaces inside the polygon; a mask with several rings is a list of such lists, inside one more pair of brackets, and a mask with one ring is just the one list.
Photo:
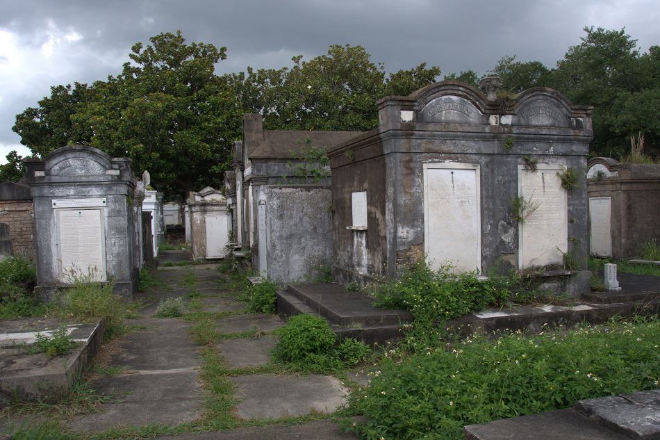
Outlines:
{"label": "brown tomb cut off by the right photo edge", "polygon": [[636,258],[644,243],[660,244],[660,165],[589,160],[587,191],[591,254]]}

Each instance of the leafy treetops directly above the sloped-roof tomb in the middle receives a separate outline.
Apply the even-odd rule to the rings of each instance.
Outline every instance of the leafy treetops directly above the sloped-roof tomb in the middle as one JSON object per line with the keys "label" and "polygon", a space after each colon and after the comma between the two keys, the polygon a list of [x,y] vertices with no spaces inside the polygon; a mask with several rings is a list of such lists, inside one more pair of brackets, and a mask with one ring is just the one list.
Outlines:
{"label": "leafy treetops directly above the sloped-roof tomb in the middle", "polygon": [[385,67],[372,62],[361,46],[331,45],[327,54],[292,67],[247,68],[226,75],[243,111],[263,115],[268,129],[368,130],[376,127],[376,102],[386,95],[409,95],[434,83],[438,67],[422,63],[386,76]]}

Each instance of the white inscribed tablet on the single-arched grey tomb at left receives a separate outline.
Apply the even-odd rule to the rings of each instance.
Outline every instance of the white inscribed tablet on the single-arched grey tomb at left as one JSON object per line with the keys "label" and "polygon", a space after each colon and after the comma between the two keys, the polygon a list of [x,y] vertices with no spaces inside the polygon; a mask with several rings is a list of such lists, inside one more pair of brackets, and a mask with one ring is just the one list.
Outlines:
{"label": "white inscribed tablet on the single-arched grey tomb at left", "polygon": [[71,282],[67,273],[94,275],[106,280],[102,209],[58,209],[58,281]]}

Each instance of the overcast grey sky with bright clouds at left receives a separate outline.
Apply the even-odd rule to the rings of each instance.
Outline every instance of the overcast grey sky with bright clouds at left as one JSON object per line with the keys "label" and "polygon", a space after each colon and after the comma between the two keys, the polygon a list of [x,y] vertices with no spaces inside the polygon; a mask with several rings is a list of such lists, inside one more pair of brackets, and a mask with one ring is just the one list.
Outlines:
{"label": "overcast grey sky with bright clouds at left", "polygon": [[227,47],[218,73],[283,67],[361,44],[388,71],[422,61],[481,74],[503,55],[554,65],[585,26],[622,28],[660,44],[658,0],[0,0],[0,157],[22,154],[16,113],[49,87],[117,74],[131,45],[181,29]]}

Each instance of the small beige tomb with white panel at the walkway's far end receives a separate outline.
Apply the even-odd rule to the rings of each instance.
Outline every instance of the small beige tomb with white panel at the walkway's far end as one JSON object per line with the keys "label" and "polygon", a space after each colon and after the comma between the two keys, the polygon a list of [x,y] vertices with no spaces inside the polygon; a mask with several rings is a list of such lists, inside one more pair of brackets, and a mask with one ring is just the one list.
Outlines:
{"label": "small beige tomb with white panel at the walkway's far end", "polygon": [[207,186],[188,197],[190,244],[194,259],[223,258],[229,244],[229,215],[222,191]]}

